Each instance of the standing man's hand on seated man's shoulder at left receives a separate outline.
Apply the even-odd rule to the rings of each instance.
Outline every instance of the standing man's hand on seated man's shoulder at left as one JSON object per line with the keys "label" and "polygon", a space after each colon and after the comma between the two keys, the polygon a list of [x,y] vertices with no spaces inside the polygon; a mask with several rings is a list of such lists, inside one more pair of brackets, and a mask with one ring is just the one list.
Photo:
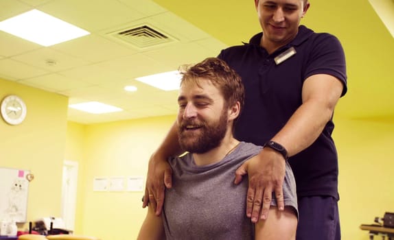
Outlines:
{"label": "standing man's hand on seated man's shoulder at left", "polygon": [[148,175],[146,177],[145,195],[142,207],[152,204],[156,209],[156,215],[160,215],[164,197],[165,187],[172,187],[172,169],[167,160],[153,154],[149,159]]}

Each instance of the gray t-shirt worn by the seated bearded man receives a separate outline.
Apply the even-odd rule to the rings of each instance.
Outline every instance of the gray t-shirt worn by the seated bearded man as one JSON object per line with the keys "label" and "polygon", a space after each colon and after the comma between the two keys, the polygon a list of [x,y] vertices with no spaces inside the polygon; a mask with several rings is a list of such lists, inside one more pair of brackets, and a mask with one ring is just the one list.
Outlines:
{"label": "gray t-shirt worn by the seated bearded man", "polygon": [[[248,178],[233,183],[235,170],[262,147],[241,142],[218,163],[197,166],[193,155],[170,158],[172,188],[165,190],[163,224],[167,239],[254,239],[254,226],[246,217]],[[283,184],[286,206],[297,211],[295,180],[286,163]],[[271,205],[276,206],[273,197]]]}

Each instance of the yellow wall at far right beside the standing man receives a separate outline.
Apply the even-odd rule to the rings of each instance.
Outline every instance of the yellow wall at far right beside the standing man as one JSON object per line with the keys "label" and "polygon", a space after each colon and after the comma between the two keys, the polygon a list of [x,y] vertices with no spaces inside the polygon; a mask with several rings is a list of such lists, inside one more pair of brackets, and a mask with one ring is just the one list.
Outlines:
{"label": "yellow wall at far right beside the standing man", "polygon": [[338,117],[335,122],[343,239],[367,240],[360,224],[394,212],[394,119]]}

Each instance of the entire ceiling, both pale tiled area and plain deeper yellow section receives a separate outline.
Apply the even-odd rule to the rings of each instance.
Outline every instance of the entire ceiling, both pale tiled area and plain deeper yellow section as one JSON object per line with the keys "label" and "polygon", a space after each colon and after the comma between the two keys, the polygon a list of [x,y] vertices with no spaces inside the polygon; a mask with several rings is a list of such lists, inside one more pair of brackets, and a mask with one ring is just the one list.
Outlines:
{"label": "entire ceiling, both pale tiled area and plain deeper yellow section", "polygon": [[[310,2],[303,24],[338,36],[347,56],[349,92],[336,115],[394,119],[394,38],[369,1]],[[0,78],[65,95],[70,104],[100,101],[124,109],[93,115],[69,108],[70,121],[86,124],[176,114],[177,91],[135,77],[217,56],[260,31],[252,0],[0,0],[0,21],[34,8],[91,34],[41,47],[0,31]],[[139,49],[109,34],[138,25],[176,40]],[[139,90],[128,93],[127,85]]]}

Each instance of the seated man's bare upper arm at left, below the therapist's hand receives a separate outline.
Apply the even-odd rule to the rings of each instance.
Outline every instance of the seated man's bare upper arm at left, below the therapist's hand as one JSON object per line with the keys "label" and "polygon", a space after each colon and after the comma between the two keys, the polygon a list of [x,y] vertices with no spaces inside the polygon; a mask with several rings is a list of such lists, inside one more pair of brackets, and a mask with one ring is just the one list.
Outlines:
{"label": "seated man's bare upper arm at left, below the therapist's hand", "polygon": [[163,219],[161,219],[161,216],[155,214],[153,206],[148,206],[148,213],[146,213],[145,220],[143,221],[137,237],[137,240],[146,239],[165,239]]}

